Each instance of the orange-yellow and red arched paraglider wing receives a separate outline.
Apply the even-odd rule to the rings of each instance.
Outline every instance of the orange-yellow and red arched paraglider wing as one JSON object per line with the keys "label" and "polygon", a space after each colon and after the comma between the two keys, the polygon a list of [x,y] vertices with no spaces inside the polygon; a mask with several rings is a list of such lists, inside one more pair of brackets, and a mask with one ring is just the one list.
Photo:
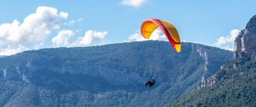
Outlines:
{"label": "orange-yellow and red arched paraglider wing", "polygon": [[179,40],[179,34],[176,28],[170,24],[169,22],[159,20],[159,19],[146,19],[140,27],[141,35],[144,38],[149,38],[151,33],[159,27],[162,32],[166,35],[169,42],[171,43],[173,49],[176,50],[176,52],[181,51],[181,40]]}

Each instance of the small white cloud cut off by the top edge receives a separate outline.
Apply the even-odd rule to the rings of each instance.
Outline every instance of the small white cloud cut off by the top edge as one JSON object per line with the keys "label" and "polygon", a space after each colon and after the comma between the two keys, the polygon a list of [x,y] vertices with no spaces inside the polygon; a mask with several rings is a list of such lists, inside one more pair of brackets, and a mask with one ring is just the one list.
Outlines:
{"label": "small white cloud cut off by the top edge", "polygon": [[148,3],[148,1],[149,0],[123,0],[121,4],[137,8],[142,4]]}

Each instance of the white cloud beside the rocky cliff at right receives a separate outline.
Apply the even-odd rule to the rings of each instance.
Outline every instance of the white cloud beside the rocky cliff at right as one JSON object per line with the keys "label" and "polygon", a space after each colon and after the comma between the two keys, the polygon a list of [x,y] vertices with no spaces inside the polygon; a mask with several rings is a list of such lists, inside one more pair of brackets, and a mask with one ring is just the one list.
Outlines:
{"label": "white cloud beside the rocky cliff at right", "polygon": [[[239,35],[239,30],[233,29],[230,31],[230,35],[227,35],[226,37],[221,36],[220,38],[217,38],[217,42],[213,44],[215,47],[219,47],[222,49],[228,49],[233,50],[234,41],[237,35]],[[230,47],[232,46],[232,47]]]}

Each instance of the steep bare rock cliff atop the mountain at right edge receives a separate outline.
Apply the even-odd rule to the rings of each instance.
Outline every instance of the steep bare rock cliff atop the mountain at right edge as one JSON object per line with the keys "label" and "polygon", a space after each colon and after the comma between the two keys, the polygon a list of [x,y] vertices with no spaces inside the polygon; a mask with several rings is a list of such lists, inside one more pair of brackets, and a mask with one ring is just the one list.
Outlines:
{"label": "steep bare rock cliff atop the mountain at right edge", "polygon": [[235,39],[234,59],[251,57],[256,52],[256,15],[247,23]]}

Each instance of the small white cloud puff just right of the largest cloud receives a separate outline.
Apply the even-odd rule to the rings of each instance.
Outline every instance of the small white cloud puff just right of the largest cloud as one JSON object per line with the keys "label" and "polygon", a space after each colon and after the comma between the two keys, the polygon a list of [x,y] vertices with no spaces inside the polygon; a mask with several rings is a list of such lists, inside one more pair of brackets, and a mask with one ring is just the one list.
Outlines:
{"label": "small white cloud puff just right of the largest cloud", "polygon": [[58,35],[52,38],[53,47],[66,47],[69,45],[69,38],[74,36],[74,32],[71,30],[59,31]]}

